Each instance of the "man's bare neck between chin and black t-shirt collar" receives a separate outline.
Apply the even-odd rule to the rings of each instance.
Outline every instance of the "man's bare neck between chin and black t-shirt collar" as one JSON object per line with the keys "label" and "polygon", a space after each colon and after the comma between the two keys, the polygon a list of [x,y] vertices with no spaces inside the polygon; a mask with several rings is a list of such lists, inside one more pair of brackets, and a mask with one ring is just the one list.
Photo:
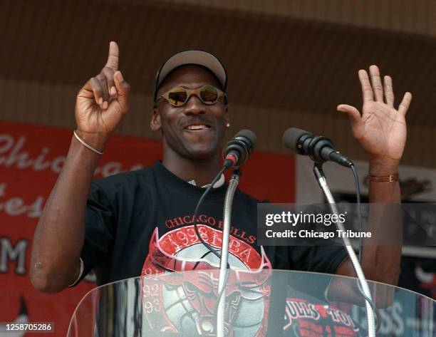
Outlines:
{"label": "man's bare neck between chin and black t-shirt collar", "polygon": [[162,165],[182,180],[194,180],[197,186],[210,184],[220,168],[218,154],[207,160],[192,160],[180,155],[164,154]]}

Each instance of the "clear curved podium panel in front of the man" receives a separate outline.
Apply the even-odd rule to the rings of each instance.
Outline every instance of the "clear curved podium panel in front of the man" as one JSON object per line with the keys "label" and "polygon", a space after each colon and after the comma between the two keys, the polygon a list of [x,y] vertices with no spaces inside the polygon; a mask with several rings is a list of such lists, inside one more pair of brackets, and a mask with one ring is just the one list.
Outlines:
{"label": "clear curved podium panel in front of the man", "polygon": [[[73,313],[68,337],[216,336],[224,296],[225,336],[368,336],[357,280],[303,271],[227,271],[218,294],[217,269],[165,272],[93,289]],[[377,334],[436,336],[436,301],[369,282]]]}

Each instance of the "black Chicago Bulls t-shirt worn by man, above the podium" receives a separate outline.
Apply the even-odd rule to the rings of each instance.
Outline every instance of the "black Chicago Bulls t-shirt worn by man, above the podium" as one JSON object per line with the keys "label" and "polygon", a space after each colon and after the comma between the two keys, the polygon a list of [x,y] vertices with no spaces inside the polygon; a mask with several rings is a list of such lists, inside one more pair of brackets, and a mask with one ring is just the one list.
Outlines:
{"label": "black Chicago Bulls t-shirt worn by man, above the podium", "polygon": [[[222,244],[226,190],[224,184],[209,192],[197,221],[204,240],[217,249]],[[100,285],[165,270],[201,268],[202,264],[219,266],[217,257],[194,232],[192,214],[203,192],[161,162],[95,180],[85,215],[82,277],[94,269]],[[234,195],[229,241],[233,269],[335,273],[346,257],[342,247],[259,247],[256,204],[240,190]]]}

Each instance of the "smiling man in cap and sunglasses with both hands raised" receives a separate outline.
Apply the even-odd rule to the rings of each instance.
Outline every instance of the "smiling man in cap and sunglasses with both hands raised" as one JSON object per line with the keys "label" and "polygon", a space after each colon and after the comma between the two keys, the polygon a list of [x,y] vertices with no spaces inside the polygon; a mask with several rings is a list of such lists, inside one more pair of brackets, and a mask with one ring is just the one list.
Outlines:
{"label": "smiling man in cap and sunglasses with both hands raised", "polygon": [[[366,71],[359,71],[363,115],[350,105],[338,105],[338,110],[349,115],[353,135],[368,154],[370,202],[400,202],[397,170],[411,95],[406,93],[395,110],[390,77],[385,76],[383,86],[376,66],[370,67],[370,77],[372,84]],[[130,87],[118,70],[118,46],[110,43],[105,67],[77,96],[77,130],[33,239],[33,286],[61,291],[93,268],[98,284],[104,284],[176,270],[177,261],[187,257],[217,263],[199,242],[192,213],[203,192],[200,186],[219,172],[219,145],[230,119],[226,85],[224,67],[209,53],[172,56],[157,73],[150,123],[162,133],[162,162],[91,184],[105,143],[128,113]],[[225,187],[224,182],[214,186],[196,220],[212,247],[221,244]],[[238,191],[234,209],[229,243],[233,268],[266,265],[354,276],[338,247],[258,247],[256,201]],[[363,250],[368,279],[395,284],[399,264],[400,247]]]}

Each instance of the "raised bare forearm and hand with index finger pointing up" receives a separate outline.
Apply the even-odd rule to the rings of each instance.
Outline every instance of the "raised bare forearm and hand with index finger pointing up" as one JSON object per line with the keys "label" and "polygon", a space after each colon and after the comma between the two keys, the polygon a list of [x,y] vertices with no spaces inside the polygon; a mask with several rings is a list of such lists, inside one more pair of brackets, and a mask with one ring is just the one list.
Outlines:
{"label": "raised bare forearm and hand with index finger pointing up", "polygon": [[[78,136],[102,151],[128,113],[130,86],[118,71],[118,46],[110,43],[108,61],[78,92]],[[85,237],[85,207],[100,156],[72,138],[68,156],[43,209],[33,237],[30,276],[36,289],[61,291],[77,278]]]}

